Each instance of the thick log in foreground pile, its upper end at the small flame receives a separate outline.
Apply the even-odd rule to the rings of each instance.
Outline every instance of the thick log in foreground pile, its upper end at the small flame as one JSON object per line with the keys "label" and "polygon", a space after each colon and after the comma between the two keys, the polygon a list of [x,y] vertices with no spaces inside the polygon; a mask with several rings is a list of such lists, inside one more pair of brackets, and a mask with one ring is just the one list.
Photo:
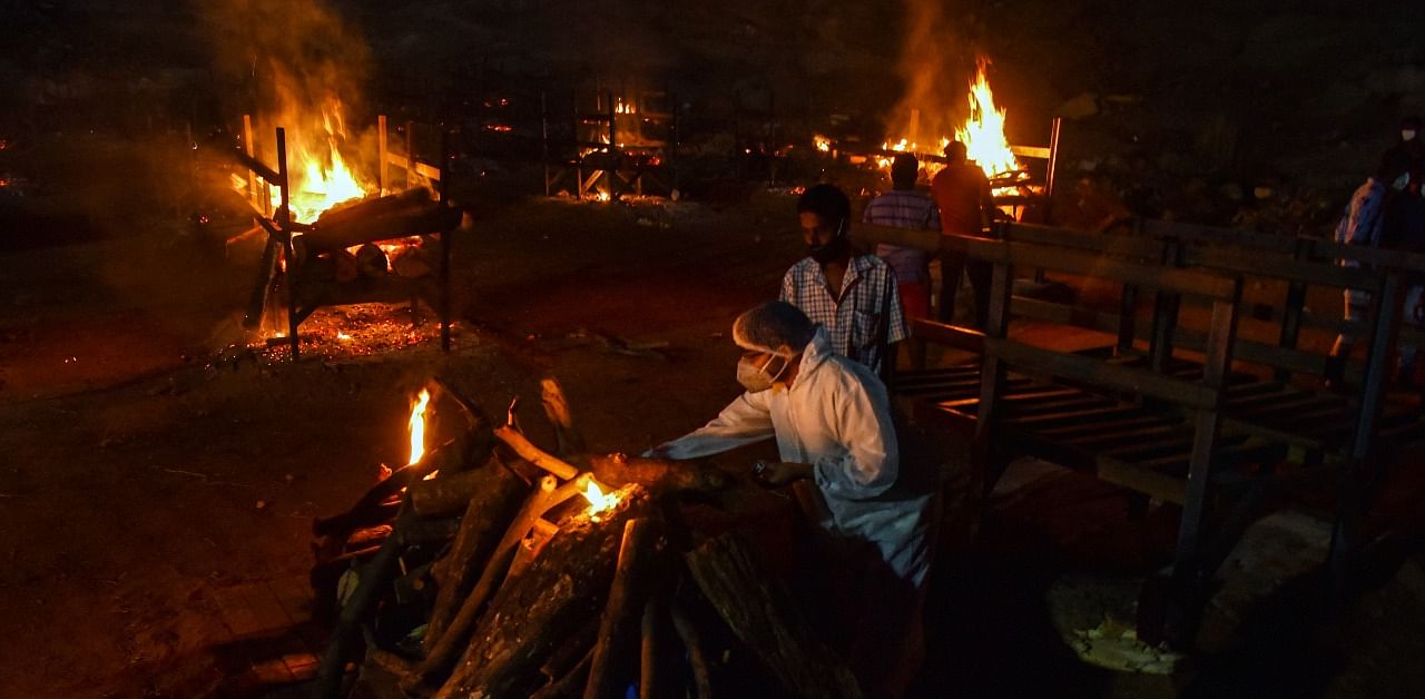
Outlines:
{"label": "thick log in foreground pile, its upper end at the small flame", "polygon": [[527,696],[542,685],[542,661],[604,605],[624,522],[650,510],[637,485],[616,497],[564,524],[519,584],[500,588],[437,698]]}

